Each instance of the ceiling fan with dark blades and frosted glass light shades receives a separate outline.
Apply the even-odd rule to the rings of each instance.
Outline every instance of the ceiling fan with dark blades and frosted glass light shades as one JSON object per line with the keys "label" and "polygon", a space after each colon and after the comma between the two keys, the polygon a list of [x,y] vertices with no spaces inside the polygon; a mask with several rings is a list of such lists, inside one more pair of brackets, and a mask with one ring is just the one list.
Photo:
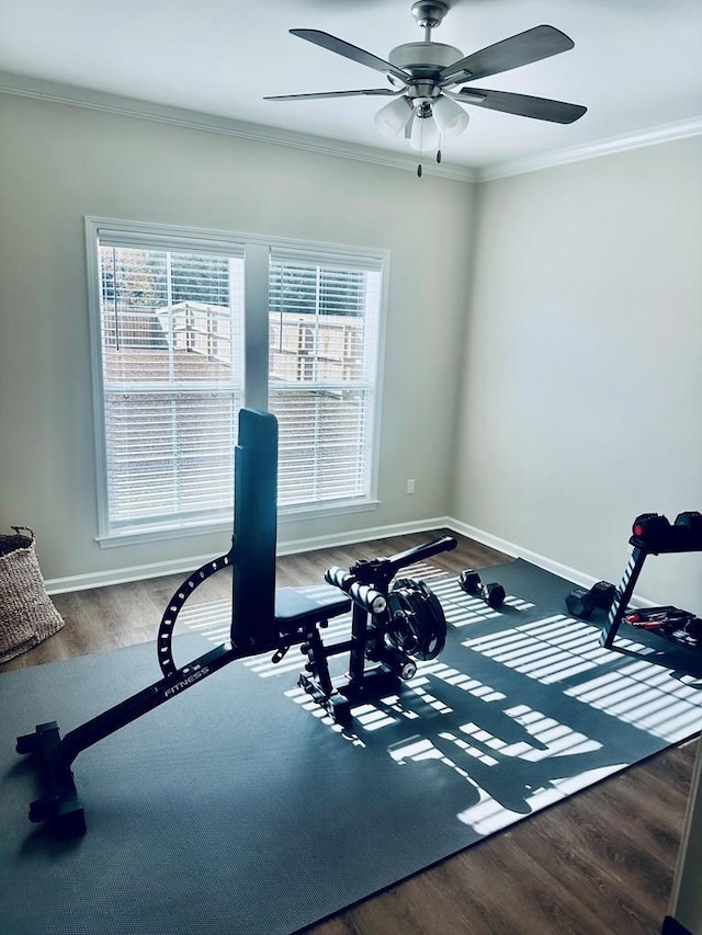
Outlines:
{"label": "ceiling fan with dark blades and frosted glass light shades", "polygon": [[587,107],[581,104],[486,88],[458,88],[460,84],[567,52],[575,43],[554,26],[534,26],[464,57],[455,46],[431,41],[431,31],[440,25],[448,12],[449,4],[441,0],[414,3],[411,14],[424,30],[424,39],[398,45],[389,53],[387,61],[319,30],[291,30],[294,36],[385,73],[393,87],[281,94],[264,100],[310,101],[358,95],[393,98],[377,112],[375,124],[390,139],[404,129],[405,138],[419,150],[437,149],[441,136],[450,138],[463,133],[468,115],[456,102],[558,124],[570,124],[586,113]]}

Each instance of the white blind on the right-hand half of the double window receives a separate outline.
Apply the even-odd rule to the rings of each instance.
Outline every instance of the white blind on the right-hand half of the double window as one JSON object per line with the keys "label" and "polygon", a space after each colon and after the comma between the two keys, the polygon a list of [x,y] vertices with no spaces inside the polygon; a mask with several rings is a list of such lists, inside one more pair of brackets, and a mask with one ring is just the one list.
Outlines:
{"label": "white blind on the right-hand half of the double window", "polygon": [[281,505],[369,495],[380,298],[380,270],[271,258]]}

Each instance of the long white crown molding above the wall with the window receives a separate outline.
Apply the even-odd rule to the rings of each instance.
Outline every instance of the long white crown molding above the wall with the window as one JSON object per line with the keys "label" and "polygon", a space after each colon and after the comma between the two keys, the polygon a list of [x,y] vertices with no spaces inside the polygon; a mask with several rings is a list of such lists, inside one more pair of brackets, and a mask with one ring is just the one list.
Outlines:
{"label": "long white crown molding above the wall with the window", "polygon": [[[262,124],[245,123],[230,117],[214,114],[203,114],[199,111],[171,107],[150,101],[139,101],[134,98],[122,98],[117,94],[106,94],[102,91],[91,91],[72,84],[60,84],[21,75],[0,71],[0,93],[15,94],[23,98],[34,98],[56,104],[70,104],[77,107],[89,107],[121,116],[156,121],[157,123],[173,124],[188,129],[205,130],[207,133],[225,134],[239,139],[250,139],[269,142],[276,146],[287,146],[293,149],[307,150],[322,156],[338,156],[343,159],[355,159],[361,162],[372,162],[376,166],[387,166],[393,169],[417,171],[417,157],[403,152],[375,149],[371,146],[360,146],[353,142],[327,139],[325,137],[276,129]],[[453,179],[461,182],[475,182],[477,172],[463,166],[452,166],[442,162],[422,163],[423,174],[437,175],[441,179]]]}

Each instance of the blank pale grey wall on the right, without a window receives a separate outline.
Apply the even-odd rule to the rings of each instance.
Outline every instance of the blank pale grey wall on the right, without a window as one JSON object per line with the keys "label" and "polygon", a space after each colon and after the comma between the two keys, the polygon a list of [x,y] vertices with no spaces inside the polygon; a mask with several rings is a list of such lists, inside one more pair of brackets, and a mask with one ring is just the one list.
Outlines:
{"label": "blank pale grey wall on the right, without a window", "polygon": [[[702,510],[702,138],[479,186],[453,515],[618,581]],[[702,613],[702,555],[637,589]]]}

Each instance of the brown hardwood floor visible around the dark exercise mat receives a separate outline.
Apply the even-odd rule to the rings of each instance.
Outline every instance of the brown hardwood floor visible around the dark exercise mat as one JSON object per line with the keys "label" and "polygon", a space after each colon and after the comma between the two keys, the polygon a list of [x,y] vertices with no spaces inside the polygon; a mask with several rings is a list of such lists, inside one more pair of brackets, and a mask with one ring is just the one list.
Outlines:
{"label": "brown hardwood floor visible around the dark exercise mat", "polygon": [[[283,557],[278,583],[317,583],[330,565],[392,555],[429,538]],[[509,560],[457,538],[457,549],[431,563],[455,572]],[[182,578],[57,595],[64,629],[0,672],[155,639]],[[227,573],[207,586],[210,598],[227,595]],[[697,743],[670,748],[571,796],[305,935],[656,935],[668,910]],[[408,842],[411,828],[408,816]]]}

